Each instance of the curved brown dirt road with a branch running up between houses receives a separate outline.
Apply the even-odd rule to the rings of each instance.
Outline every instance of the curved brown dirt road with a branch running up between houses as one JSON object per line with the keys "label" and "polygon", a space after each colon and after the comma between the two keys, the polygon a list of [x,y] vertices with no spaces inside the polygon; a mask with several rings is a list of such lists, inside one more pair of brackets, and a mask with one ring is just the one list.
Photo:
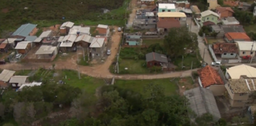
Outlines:
{"label": "curved brown dirt road with a branch running up between houses", "polygon": [[49,69],[55,64],[55,69],[72,69],[79,71],[82,74],[88,76],[97,77],[97,78],[112,78],[115,76],[116,79],[122,80],[149,80],[149,79],[160,79],[160,78],[170,78],[170,77],[180,77],[180,76],[190,76],[191,72],[196,70],[187,70],[183,72],[168,72],[163,74],[148,74],[148,75],[115,75],[109,72],[109,67],[113,61],[116,60],[115,55],[118,53],[118,47],[121,39],[122,32],[117,31],[111,36],[111,55],[107,57],[102,65],[93,65],[93,66],[82,66],[77,65],[76,59],[77,56],[74,55],[71,59],[67,61],[54,61],[54,62],[28,62],[28,63],[8,63],[6,65],[0,65],[0,69],[10,69],[10,70],[22,70],[22,69],[39,69],[45,68]]}

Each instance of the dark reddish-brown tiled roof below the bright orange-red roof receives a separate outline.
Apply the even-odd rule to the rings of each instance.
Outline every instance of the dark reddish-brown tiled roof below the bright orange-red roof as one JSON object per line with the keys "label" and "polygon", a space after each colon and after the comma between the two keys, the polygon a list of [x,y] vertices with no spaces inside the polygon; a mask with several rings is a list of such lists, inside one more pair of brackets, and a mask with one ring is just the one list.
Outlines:
{"label": "dark reddish-brown tiled roof below the bright orange-red roof", "polygon": [[223,53],[237,53],[237,46],[235,43],[215,43],[213,44],[214,54],[223,54]]}

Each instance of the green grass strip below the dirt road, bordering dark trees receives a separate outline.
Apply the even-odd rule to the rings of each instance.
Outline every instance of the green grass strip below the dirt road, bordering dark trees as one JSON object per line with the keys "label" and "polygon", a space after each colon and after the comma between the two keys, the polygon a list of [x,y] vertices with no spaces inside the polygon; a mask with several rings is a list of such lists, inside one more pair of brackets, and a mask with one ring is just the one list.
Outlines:
{"label": "green grass strip below the dirt road, bordering dark trees", "polygon": [[164,87],[165,95],[176,95],[178,91],[178,87],[176,86],[174,81],[170,81],[171,79],[161,79],[161,80],[115,80],[115,85],[122,88],[131,89],[133,91],[137,91],[142,95],[145,95],[144,87],[149,83],[160,84]]}

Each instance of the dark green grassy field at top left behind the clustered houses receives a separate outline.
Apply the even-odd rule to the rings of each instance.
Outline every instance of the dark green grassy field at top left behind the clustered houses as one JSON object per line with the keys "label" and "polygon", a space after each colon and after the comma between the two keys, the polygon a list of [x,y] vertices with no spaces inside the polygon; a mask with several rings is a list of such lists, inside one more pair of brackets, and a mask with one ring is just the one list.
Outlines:
{"label": "dark green grassy field at top left behind the clustered houses", "polygon": [[[100,20],[116,24],[124,20],[126,0],[1,0],[0,30],[16,29],[24,23],[41,25],[62,23],[71,20],[76,23],[93,24]],[[27,7],[27,9],[24,9]],[[104,14],[103,9],[111,10]],[[66,20],[62,20],[66,17]],[[107,21],[106,21],[107,20]],[[114,21],[114,22],[112,22]],[[42,23],[43,22],[43,23]],[[123,22],[123,21],[122,21]],[[52,24],[51,24],[52,25]],[[47,25],[49,26],[49,25]],[[39,26],[40,27],[40,26]],[[43,26],[42,26],[43,27]]]}

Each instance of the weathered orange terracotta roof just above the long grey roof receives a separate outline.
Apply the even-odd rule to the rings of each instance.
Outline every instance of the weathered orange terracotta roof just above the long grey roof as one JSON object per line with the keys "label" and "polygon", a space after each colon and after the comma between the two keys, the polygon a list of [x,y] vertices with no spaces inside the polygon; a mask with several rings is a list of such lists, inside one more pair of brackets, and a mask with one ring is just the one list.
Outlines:
{"label": "weathered orange terracotta roof just above the long grey roof", "polygon": [[219,73],[209,65],[206,65],[205,68],[198,69],[198,75],[202,87],[209,87],[215,84],[224,85],[224,81],[221,79]]}

